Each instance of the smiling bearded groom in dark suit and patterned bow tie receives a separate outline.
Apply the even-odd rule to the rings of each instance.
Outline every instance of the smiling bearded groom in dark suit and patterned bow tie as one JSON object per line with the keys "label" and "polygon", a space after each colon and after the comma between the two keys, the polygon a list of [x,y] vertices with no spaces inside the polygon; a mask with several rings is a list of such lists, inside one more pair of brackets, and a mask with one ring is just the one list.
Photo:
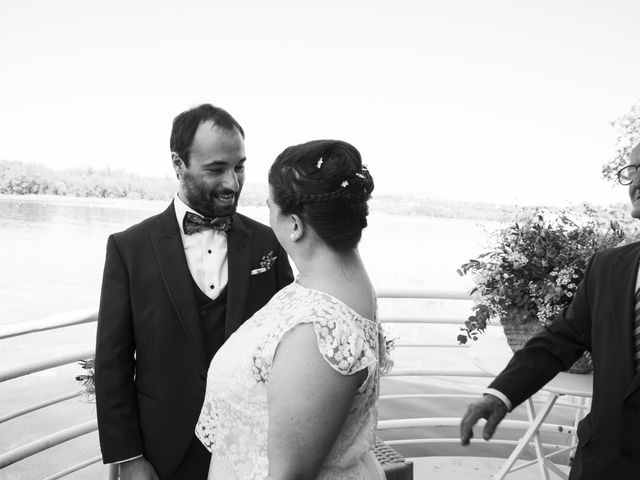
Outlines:
{"label": "smiling bearded groom in dark suit and patterned bow tie", "polygon": [[205,479],[194,428],[209,362],[292,279],[270,228],[235,212],[244,132],[226,111],[178,115],[179,181],[163,213],[109,237],[96,341],[103,461],[122,479]]}

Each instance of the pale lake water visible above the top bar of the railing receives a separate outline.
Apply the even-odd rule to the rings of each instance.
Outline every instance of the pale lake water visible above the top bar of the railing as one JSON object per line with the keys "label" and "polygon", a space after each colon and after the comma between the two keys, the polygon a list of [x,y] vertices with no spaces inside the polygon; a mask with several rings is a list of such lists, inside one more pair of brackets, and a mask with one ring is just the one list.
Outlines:
{"label": "pale lake water visible above the top bar of the railing", "polygon": [[[0,324],[94,307],[107,236],[160,202],[0,197]],[[266,207],[240,211],[268,223]],[[486,244],[476,221],[376,214],[360,246],[377,288],[463,291],[456,269]]]}

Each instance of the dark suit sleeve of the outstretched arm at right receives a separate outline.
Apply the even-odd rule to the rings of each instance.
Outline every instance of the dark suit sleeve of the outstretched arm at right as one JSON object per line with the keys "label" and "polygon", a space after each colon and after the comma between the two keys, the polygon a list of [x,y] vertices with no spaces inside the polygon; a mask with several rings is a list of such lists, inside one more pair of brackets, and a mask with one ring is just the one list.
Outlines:
{"label": "dark suit sleeve of the outstretched arm at right", "polygon": [[533,337],[513,358],[490,389],[502,392],[515,408],[567,370],[585,350],[591,350],[591,312],[588,285],[594,261],[586,268],[571,304],[553,323]]}

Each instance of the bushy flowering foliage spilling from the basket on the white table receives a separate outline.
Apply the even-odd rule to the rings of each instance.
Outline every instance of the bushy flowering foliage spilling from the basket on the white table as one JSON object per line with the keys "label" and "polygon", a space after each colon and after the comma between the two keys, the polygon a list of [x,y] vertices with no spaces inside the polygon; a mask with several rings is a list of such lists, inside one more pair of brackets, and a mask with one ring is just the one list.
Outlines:
{"label": "bushy flowering foliage spilling from the basket on the white table", "polygon": [[[637,231],[627,229],[637,236]],[[492,318],[549,324],[569,305],[589,258],[622,243],[627,234],[615,220],[590,208],[582,212],[524,209],[495,232],[493,246],[460,267],[475,287],[474,314],[457,339],[477,340]]]}

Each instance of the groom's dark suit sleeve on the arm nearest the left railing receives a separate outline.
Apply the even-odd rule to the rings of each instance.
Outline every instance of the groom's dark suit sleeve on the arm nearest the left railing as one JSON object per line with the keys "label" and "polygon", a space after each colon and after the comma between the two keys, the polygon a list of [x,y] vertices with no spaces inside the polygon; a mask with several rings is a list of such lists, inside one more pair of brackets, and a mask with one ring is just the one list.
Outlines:
{"label": "groom's dark suit sleeve on the arm nearest the left railing", "polygon": [[96,336],[95,386],[104,463],[143,453],[138,420],[129,274],[114,236],[107,242]]}

